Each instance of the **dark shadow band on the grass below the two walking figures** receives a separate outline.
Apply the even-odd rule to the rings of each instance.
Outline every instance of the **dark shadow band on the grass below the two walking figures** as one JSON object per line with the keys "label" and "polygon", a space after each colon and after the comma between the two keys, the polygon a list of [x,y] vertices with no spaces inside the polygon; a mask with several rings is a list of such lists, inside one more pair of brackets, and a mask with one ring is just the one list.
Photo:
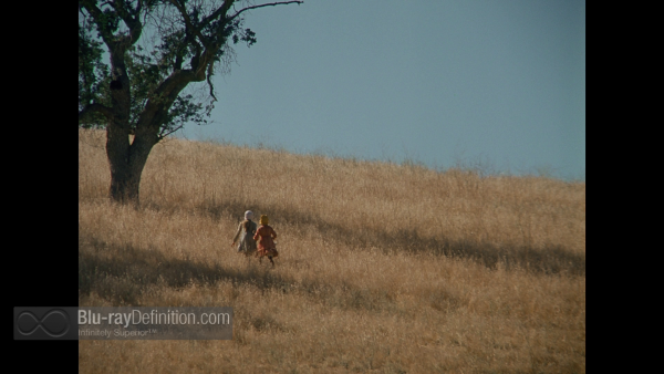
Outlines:
{"label": "dark shadow band on the grass below the two walking figures", "polygon": [[[156,249],[110,245],[94,236],[79,233],[79,294],[89,297],[94,292],[113,305],[139,307],[142,295],[153,290],[177,290],[191,284],[214,285],[226,281],[234,289],[249,285],[263,292],[297,292],[321,300],[332,308],[396,308],[394,295],[383,290],[359,289],[349,283],[329,284],[317,279],[295,281],[292,277],[268,270],[268,264],[263,264],[266,267],[249,264],[231,268],[194,259],[177,259],[164,256]],[[235,294],[239,292],[234,291]],[[264,316],[262,320],[268,321]],[[256,329],[262,326],[262,322],[259,322]]]}

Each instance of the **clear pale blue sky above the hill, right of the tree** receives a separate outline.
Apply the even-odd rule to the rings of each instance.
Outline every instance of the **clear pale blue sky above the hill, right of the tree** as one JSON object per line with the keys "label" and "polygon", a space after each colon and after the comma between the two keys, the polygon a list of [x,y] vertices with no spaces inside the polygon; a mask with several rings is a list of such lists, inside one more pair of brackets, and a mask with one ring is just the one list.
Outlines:
{"label": "clear pale blue sky above the hill, right of the tree", "polygon": [[[256,1],[255,3],[261,3]],[[246,13],[189,139],[585,179],[585,2],[322,1]]]}

